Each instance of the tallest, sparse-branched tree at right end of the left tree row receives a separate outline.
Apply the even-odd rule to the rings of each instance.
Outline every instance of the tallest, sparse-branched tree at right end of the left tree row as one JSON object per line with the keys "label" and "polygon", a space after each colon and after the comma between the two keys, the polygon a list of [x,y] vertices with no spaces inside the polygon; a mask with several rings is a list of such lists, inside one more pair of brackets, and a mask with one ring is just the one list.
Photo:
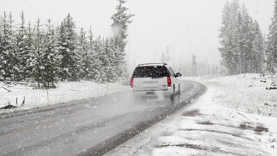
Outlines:
{"label": "tallest, sparse-branched tree at right end of the left tree row", "polygon": [[116,12],[112,15],[111,19],[113,21],[111,27],[113,31],[114,41],[115,45],[118,48],[117,52],[117,63],[114,66],[117,67],[117,70],[119,71],[118,76],[123,76],[126,79],[128,79],[128,73],[126,71],[126,62],[125,62],[125,46],[127,44],[127,30],[128,30],[128,24],[130,24],[131,17],[134,16],[134,14],[127,13],[126,11],[128,8],[126,8],[124,3],[126,3],[125,0],[118,0],[119,4],[116,6]]}

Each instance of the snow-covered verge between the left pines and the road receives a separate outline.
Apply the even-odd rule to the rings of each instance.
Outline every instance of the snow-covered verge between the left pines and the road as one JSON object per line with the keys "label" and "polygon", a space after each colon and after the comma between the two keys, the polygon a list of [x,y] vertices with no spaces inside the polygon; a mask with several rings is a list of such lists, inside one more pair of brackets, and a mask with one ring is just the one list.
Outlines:
{"label": "snow-covered verge between the left pines and the road", "polygon": [[60,104],[75,100],[88,99],[91,97],[103,96],[113,94],[129,89],[129,86],[123,86],[118,83],[97,84],[90,81],[83,82],[60,82],[54,89],[48,90],[49,103],[47,101],[46,89],[34,89],[26,85],[13,85],[8,89],[8,92],[2,88],[3,83],[0,83],[0,107],[16,104],[16,97],[18,105],[21,105],[25,96],[25,106],[9,110],[0,110],[0,113],[8,113],[18,110],[26,110],[37,107],[44,107],[48,105]]}

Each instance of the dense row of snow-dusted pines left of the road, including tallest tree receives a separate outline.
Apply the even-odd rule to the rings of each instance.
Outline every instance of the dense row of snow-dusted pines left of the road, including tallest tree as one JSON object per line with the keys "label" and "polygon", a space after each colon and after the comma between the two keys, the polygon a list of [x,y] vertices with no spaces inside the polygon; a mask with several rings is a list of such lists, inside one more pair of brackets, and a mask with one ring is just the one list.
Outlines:
{"label": "dense row of snow-dusted pines left of the road, including tallest tree", "polygon": [[42,24],[13,24],[12,14],[0,19],[0,77],[12,81],[35,80],[40,86],[54,87],[56,81],[91,80],[114,82],[127,75],[125,46],[132,14],[118,0],[111,19],[112,37],[94,37],[92,30],[76,30],[68,15],[54,26],[50,19]]}

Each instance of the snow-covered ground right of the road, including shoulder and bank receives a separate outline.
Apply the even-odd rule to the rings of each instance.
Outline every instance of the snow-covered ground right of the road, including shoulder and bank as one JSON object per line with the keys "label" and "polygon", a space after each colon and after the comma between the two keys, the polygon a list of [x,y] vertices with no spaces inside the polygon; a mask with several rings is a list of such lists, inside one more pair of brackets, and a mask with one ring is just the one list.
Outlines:
{"label": "snow-covered ground right of the road, including shoulder and bank", "polygon": [[277,102],[276,90],[265,90],[276,79],[267,76],[266,83],[258,74],[198,79],[208,86],[203,96],[106,156],[276,155],[277,118],[264,105]]}

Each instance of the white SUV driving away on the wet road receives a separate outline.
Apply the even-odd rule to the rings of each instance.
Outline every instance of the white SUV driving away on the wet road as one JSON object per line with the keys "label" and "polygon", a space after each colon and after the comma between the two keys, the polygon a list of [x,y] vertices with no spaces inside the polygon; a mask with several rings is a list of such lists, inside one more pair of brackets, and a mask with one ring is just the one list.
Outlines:
{"label": "white SUV driving away on the wet road", "polygon": [[175,74],[172,68],[164,63],[140,64],[133,72],[130,86],[134,92],[154,94],[159,91],[174,99],[176,94],[180,94],[180,83],[176,77],[181,75]]}

